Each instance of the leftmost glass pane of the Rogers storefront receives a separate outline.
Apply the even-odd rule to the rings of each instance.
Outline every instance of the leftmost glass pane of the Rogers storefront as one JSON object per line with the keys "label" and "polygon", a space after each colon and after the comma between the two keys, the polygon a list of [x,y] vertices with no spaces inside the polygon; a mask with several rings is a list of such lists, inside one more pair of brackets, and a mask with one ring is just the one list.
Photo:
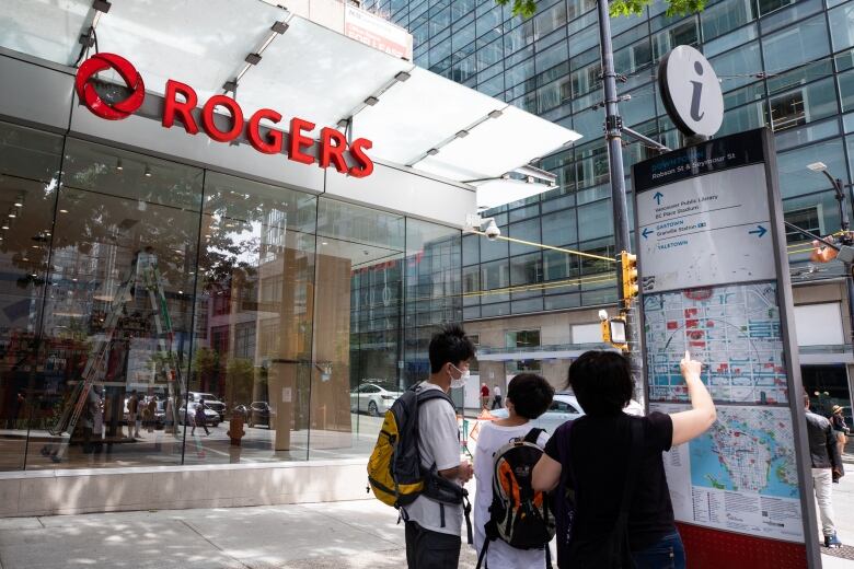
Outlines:
{"label": "leftmost glass pane of the Rogers storefront", "polygon": [[61,137],[0,123],[2,471],[24,467],[27,427],[45,440],[61,396],[39,379],[45,358],[37,341],[61,153]]}

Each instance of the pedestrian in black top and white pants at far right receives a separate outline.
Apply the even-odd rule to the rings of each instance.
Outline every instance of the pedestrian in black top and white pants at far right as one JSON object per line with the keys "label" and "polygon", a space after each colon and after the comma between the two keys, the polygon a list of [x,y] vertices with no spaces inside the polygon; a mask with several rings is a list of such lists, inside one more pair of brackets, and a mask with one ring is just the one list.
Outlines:
{"label": "pedestrian in black top and white pants at far right", "polygon": [[839,453],[833,428],[830,421],[809,410],[809,395],[804,392],[804,408],[807,416],[807,439],[809,457],[812,463],[812,487],[819,504],[821,533],[824,534],[824,547],[842,547],[833,524],[833,477],[844,474],[842,456]]}

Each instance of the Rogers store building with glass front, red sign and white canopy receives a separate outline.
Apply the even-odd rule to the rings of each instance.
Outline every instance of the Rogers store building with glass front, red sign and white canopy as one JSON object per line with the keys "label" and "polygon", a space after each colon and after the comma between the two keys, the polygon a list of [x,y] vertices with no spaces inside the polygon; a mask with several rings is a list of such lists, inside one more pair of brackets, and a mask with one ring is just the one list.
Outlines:
{"label": "Rogers store building with glass front, red sign and white canopy", "polygon": [[0,515],[366,497],[466,181],[577,136],[324,2],[0,7]]}

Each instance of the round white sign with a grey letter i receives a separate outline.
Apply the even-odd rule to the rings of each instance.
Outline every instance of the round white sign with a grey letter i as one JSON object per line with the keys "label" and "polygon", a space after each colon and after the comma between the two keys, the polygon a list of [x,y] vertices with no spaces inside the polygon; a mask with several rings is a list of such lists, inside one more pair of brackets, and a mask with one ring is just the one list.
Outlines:
{"label": "round white sign with a grey letter i", "polygon": [[724,121],[724,94],[715,70],[691,46],[674,47],[658,68],[667,114],[686,135],[711,137]]}

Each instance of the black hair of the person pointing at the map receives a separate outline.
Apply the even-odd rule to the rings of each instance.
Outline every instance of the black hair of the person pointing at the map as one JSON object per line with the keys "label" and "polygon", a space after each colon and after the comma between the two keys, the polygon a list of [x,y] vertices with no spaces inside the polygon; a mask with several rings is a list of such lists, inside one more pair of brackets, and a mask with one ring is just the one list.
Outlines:
{"label": "black hair of the person pointing at the map", "polygon": [[590,350],[569,365],[567,385],[587,415],[622,411],[635,391],[628,360],[615,351]]}

